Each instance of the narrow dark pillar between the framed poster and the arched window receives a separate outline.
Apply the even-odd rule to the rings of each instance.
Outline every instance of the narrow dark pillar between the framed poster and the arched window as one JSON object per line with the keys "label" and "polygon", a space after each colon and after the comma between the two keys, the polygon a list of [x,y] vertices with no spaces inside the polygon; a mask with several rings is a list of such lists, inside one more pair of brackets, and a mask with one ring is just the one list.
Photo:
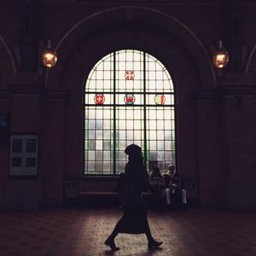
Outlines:
{"label": "narrow dark pillar between the framed poster and the arched window", "polygon": [[66,96],[66,90],[46,91],[42,113],[42,177],[46,203],[54,205],[60,205],[64,197]]}

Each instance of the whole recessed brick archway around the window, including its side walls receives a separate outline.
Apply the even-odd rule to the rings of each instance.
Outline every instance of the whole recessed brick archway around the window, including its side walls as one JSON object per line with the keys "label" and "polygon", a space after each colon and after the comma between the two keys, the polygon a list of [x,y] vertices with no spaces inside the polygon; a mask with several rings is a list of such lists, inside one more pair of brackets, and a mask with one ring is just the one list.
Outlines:
{"label": "whole recessed brick archway around the window, including its side walls", "polygon": [[[198,181],[198,117],[191,92],[214,89],[211,58],[200,40],[181,22],[153,9],[137,7],[108,9],[81,20],[57,44],[59,62],[50,70],[46,88],[69,91],[64,178],[81,178],[84,83],[96,62],[118,49],[146,51],[171,74],[177,94],[178,170],[183,177]],[[80,188],[84,186],[81,180]]]}

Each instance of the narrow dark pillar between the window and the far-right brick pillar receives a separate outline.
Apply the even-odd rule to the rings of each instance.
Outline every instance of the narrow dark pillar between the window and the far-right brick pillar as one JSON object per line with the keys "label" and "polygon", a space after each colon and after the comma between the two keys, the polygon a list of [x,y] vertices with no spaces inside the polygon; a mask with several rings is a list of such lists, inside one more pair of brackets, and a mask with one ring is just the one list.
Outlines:
{"label": "narrow dark pillar between the window and the far-right brick pillar", "polygon": [[221,205],[221,159],[218,98],[214,90],[197,90],[196,100],[197,155],[200,204]]}

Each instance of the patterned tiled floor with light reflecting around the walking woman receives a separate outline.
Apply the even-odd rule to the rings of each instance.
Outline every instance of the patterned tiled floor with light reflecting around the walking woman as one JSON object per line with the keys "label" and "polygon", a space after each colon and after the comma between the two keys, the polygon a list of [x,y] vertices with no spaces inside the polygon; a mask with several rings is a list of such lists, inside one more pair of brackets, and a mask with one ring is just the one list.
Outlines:
{"label": "patterned tiled floor with light reflecting around the walking woman", "polygon": [[144,235],[121,234],[120,251],[111,252],[103,242],[121,214],[115,208],[67,207],[0,212],[0,255],[256,255],[255,212],[148,211],[152,233],[163,246],[148,251]]}

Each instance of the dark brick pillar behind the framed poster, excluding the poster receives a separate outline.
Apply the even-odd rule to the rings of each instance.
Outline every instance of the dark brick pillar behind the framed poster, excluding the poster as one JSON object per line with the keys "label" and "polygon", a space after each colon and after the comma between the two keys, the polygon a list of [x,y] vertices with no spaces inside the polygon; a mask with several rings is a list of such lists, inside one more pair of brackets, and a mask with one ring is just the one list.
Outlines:
{"label": "dark brick pillar behind the framed poster, excluding the poster", "polygon": [[[9,95],[10,134],[38,134],[40,137],[42,83],[38,74],[15,74],[12,83],[9,84]],[[6,175],[8,177],[8,173]],[[38,176],[32,177],[22,177],[22,173],[19,177],[9,176],[5,185],[5,207],[37,209],[43,201],[43,190],[43,181],[39,172]]]}

